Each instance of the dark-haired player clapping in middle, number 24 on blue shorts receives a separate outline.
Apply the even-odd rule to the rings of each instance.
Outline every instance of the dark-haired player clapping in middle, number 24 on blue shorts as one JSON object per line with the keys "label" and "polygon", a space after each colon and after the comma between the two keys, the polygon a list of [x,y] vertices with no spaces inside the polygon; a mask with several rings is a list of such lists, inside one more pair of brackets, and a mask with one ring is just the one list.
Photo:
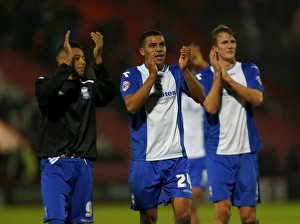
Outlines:
{"label": "dark-haired player clapping in middle, number 24 on blue shorts", "polygon": [[131,209],[141,224],[157,221],[158,205],[172,203],[177,224],[190,223],[192,187],[183,142],[181,93],[203,103],[203,87],[188,69],[191,49],[180,49],[179,65],[166,65],[161,32],[140,37],[145,62],[126,69],[120,92],[129,112]]}

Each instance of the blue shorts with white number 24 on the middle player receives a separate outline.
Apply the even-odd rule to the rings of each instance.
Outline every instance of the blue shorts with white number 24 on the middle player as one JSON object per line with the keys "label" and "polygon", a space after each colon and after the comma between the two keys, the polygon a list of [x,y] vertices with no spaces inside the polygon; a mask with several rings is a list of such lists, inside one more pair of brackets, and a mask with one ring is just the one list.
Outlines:
{"label": "blue shorts with white number 24 on the middle player", "polygon": [[189,162],[186,157],[161,161],[131,161],[129,185],[131,209],[145,211],[155,208],[171,198],[192,199],[189,177]]}

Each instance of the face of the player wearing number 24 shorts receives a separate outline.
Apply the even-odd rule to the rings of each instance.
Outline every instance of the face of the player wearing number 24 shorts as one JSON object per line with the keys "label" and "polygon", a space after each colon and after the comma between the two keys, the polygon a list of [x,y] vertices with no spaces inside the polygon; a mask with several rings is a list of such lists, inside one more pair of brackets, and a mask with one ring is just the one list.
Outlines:
{"label": "face of the player wearing number 24 shorts", "polygon": [[[152,53],[154,51],[154,54]],[[141,55],[147,60],[154,56],[154,63],[157,67],[163,65],[166,58],[166,43],[163,36],[149,36],[146,38],[145,45],[140,49]]]}

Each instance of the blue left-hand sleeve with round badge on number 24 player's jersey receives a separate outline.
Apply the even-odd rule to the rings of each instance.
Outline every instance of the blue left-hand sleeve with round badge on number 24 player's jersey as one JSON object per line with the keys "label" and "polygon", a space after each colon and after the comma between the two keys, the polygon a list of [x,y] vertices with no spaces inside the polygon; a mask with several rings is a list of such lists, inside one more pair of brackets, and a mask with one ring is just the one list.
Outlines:
{"label": "blue left-hand sleeve with round badge on number 24 player's jersey", "polygon": [[134,94],[142,85],[141,74],[138,69],[129,68],[122,73],[120,82],[120,92],[122,98],[128,94]]}

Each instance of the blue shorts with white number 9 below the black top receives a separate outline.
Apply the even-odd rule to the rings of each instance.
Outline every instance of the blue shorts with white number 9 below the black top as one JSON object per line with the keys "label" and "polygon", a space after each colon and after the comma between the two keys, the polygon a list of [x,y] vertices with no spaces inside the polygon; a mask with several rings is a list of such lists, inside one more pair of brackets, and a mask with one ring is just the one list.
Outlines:
{"label": "blue shorts with white number 9 below the black top", "polygon": [[41,159],[44,222],[93,223],[94,163],[82,158]]}

